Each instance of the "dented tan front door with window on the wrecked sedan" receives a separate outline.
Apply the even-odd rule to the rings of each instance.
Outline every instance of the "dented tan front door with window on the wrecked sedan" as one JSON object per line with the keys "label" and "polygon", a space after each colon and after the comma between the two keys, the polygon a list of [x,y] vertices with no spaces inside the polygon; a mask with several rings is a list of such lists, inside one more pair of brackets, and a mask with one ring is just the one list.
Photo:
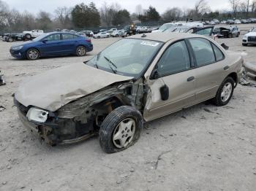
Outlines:
{"label": "dented tan front door with window on the wrecked sedan", "polygon": [[[143,114],[146,121],[195,104],[195,71],[191,68],[184,40],[167,47],[155,70],[158,77],[148,80],[148,98]],[[167,100],[162,100],[160,93],[164,86],[168,89]]]}

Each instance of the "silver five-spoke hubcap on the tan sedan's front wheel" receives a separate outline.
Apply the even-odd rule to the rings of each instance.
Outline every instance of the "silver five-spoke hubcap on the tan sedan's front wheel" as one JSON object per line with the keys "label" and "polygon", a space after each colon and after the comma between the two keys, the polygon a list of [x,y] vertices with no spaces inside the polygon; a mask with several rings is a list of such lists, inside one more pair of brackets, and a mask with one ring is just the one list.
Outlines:
{"label": "silver five-spoke hubcap on the tan sedan's front wheel", "polygon": [[135,120],[127,118],[119,122],[113,133],[113,144],[117,148],[127,147],[135,135]]}

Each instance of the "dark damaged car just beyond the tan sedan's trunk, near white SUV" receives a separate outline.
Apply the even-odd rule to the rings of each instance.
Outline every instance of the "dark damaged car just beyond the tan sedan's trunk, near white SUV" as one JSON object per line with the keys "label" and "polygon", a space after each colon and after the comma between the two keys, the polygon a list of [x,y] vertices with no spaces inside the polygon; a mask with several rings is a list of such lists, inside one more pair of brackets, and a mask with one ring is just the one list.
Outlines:
{"label": "dark damaged car just beyond the tan sedan's trunk, near white SUV", "polygon": [[240,30],[237,26],[217,27],[214,28],[213,34],[217,35],[218,38],[233,38],[240,35]]}

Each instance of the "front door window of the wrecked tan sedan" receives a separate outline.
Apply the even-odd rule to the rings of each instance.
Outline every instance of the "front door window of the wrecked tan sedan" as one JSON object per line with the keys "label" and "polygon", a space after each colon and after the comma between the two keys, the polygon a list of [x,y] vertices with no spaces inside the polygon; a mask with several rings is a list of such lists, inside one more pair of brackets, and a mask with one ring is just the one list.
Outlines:
{"label": "front door window of the wrecked tan sedan", "polygon": [[184,41],[176,42],[168,47],[157,63],[157,71],[161,76],[185,71],[189,68],[189,52]]}

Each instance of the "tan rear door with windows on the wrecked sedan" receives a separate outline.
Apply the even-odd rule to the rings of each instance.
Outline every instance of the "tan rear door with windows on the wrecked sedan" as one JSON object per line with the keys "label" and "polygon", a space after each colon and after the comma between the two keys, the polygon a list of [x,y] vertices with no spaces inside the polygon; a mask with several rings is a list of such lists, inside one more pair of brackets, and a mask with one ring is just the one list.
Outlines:
{"label": "tan rear door with windows on the wrecked sedan", "polygon": [[225,78],[224,54],[208,39],[189,39],[195,57],[195,98],[201,101],[213,98]]}

